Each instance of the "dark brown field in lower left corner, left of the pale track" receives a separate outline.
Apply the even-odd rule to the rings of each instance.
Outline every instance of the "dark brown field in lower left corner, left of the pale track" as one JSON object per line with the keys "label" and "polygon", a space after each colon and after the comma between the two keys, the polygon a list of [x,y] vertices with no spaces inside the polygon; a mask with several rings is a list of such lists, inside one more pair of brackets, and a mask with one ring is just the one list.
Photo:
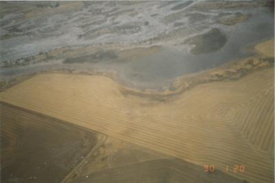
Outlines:
{"label": "dark brown field in lower left corner, left of the pale track", "polygon": [[104,136],[0,103],[1,182],[60,182]]}

